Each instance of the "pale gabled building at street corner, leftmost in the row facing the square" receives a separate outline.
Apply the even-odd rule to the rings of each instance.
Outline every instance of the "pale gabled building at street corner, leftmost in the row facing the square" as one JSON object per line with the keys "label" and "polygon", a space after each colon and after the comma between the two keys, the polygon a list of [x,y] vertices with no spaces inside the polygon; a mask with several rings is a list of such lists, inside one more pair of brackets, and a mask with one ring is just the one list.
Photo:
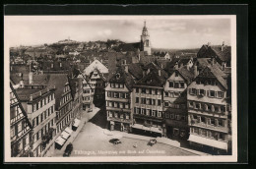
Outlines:
{"label": "pale gabled building at street corner, leftmost in the row facing the square", "polygon": [[118,67],[105,87],[105,105],[110,130],[129,132],[132,125],[131,91],[133,78],[128,66]]}

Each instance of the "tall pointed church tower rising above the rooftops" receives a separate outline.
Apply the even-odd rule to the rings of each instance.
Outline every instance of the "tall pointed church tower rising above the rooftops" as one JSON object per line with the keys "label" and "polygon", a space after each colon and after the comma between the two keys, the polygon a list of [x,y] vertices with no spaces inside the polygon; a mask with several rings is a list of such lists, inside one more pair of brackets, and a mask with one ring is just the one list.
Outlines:
{"label": "tall pointed church tower rising above the rooftops", "polygon": [[148,55],[151,55],[151,41],[148,28],[146,27],[146,22],[144,22],[144,27],[142,29],[141,35],[141,50],[147,51]]}

